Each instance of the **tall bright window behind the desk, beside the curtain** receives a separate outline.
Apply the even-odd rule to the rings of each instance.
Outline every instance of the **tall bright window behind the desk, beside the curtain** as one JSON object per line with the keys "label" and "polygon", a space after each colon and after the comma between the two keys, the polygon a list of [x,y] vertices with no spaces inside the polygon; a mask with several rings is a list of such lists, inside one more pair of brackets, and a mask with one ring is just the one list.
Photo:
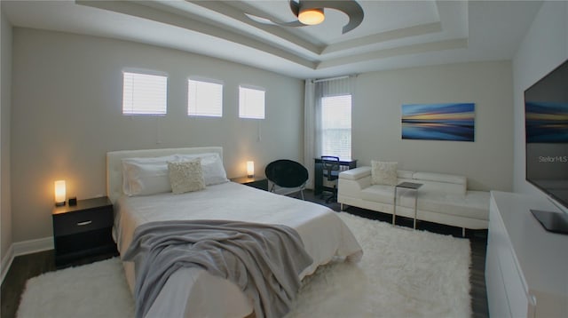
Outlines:
{"label": "tall bright window behind the desk, beside the curtain", "polygon": [[351,159],[351,95],[321,98],[323,155]]}

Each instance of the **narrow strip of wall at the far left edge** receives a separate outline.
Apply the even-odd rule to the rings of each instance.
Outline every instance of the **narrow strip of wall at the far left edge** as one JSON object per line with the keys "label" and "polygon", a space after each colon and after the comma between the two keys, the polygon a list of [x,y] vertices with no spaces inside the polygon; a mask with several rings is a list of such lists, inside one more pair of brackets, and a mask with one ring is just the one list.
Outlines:
{"label": "narrow strip of wall at the far left edge", "polygon": [[[2,49],[0,74],[0,259],[4,262],[12,245],[12,205],[10,201],[10,112],[12,107],[12,25],[0,12]],[[3,264],[5,266],[6,264]],[[4,274],[5,268],[2,268]]]}

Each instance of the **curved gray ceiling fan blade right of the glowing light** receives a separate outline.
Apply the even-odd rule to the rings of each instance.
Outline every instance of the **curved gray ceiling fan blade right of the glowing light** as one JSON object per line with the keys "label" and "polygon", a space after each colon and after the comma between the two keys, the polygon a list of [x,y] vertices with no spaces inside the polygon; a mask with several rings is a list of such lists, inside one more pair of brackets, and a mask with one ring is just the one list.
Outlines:
{"label": "curved gray ceiling fan blade right of the glowing light", "polygon": [[[294,12],[294,4],[296,1],[290,0],[290,8]],[[351,31],[353,28],[359,27],[359,24],[363,21],[365,17],[365,12],[363,12],[363,8],[354,0],[341,0],[341,1],[334,1],[334,0],[300,0],[299,3],[296,4],[298,11],[300,6],[302,9],[315,9],[315,8],[327,8],[327,9],[335,9],[339,10],[347,16],[349,16],[349,23],[343,26],[342,33],[345,34]],[[295,12],[296,16],[297,13]]]}

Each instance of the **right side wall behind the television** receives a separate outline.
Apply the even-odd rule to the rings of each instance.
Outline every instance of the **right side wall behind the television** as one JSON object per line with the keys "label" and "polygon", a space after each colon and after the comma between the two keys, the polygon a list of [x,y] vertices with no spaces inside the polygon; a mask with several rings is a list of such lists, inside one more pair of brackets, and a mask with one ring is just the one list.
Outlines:
{"label": "right side wall behind the television", "polygon": [[513,189],[542,195],[525,181],[525,98],[533,83],[568,59],[568,3],[547,1],[540,7],[513,59],[515,156]]}

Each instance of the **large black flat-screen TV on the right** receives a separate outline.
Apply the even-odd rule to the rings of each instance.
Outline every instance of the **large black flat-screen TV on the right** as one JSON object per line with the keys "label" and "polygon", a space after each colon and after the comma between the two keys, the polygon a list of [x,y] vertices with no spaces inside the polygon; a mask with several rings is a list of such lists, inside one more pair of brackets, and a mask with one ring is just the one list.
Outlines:
{"label": "large black flat-screen TV on the right", "polygon": [[525,91],[526,180],[568,210],[568,60]]}

